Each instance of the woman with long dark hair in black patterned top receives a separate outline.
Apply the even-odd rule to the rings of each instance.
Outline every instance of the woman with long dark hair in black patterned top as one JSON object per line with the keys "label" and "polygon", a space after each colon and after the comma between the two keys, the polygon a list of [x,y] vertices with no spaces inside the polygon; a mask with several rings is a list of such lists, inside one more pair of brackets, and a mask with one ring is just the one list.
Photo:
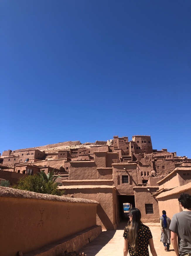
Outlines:
{"label": "woman with long dark hair in black patterned top", "polygon": [[153,256],[157,256],[153,237],[149,227],[143,225],[141,222],[141,212],[137,208],[131,208],[129,210],[129,223],[124,230],[124,249],[123,255],[144,256],[149,255],[150,247]]}

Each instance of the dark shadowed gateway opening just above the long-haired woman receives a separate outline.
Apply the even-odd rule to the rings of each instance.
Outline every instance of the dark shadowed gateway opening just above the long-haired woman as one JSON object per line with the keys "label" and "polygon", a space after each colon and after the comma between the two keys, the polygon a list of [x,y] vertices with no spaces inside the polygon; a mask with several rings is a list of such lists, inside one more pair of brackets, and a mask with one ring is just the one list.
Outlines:
{"label": "dark shadowed gateway opening just above the long-haired woman", "polygon": [[132,204],[132,207],[135,207],[135,197],[134,196],[126,196],[126,195],[118,195],[118,202],[119,202],[119,217],[120,221],[127,221],[129,218],[127,213],[124,212],[123,204],[129,203]]}

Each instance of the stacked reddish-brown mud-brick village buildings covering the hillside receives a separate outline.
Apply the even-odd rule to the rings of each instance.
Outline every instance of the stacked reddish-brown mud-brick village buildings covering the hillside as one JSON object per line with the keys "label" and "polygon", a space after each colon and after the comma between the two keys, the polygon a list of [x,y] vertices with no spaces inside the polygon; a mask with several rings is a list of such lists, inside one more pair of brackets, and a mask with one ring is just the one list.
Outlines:
{"label": "stacked reddish-brown mud-brick village buildings covering the hillside", "polygon": [[191,167],[191,159],[166,148],[153,149],[149,135],[134,135],[130,141],[127,136],[113,136],[105,142],[9,149],[2,159],[4,171],[6,166],[26,175],[54,169],[62,176],[59,182],[63,185],[58,189],[65,190],[64,196],[100,203],[97,224],[103,229],[116,229],[120,220],[127,219],[123,203],[139,208],[143,222],[159,222],[159,194],[191,184],[190,169],[186,174],[182,171]]}

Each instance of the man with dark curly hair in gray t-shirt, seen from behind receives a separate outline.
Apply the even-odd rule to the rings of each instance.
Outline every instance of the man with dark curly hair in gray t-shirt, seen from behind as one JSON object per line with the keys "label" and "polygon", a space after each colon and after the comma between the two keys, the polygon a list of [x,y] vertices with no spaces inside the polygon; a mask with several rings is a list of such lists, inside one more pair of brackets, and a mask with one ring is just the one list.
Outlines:
{"label": "man with dark curly hair in gray t-shirt, seen from behind", "polygon": [[[176,213],[171,220],[171,240],[177,256],[191,256],[191,195],[182,193],[178,201],[183,211]],[[180,240],[179,252],[177,235]]]}

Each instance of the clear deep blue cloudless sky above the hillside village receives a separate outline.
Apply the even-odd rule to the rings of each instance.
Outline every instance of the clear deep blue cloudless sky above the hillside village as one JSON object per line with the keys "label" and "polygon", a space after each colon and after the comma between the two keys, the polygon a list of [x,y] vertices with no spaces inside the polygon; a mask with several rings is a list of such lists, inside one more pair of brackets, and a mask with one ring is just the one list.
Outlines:
{"label": "clear deep blue cloudless sky above the hillside village", "polygon": [[1,0],[0,153],[151,135],[191,157],[190,0]]}

